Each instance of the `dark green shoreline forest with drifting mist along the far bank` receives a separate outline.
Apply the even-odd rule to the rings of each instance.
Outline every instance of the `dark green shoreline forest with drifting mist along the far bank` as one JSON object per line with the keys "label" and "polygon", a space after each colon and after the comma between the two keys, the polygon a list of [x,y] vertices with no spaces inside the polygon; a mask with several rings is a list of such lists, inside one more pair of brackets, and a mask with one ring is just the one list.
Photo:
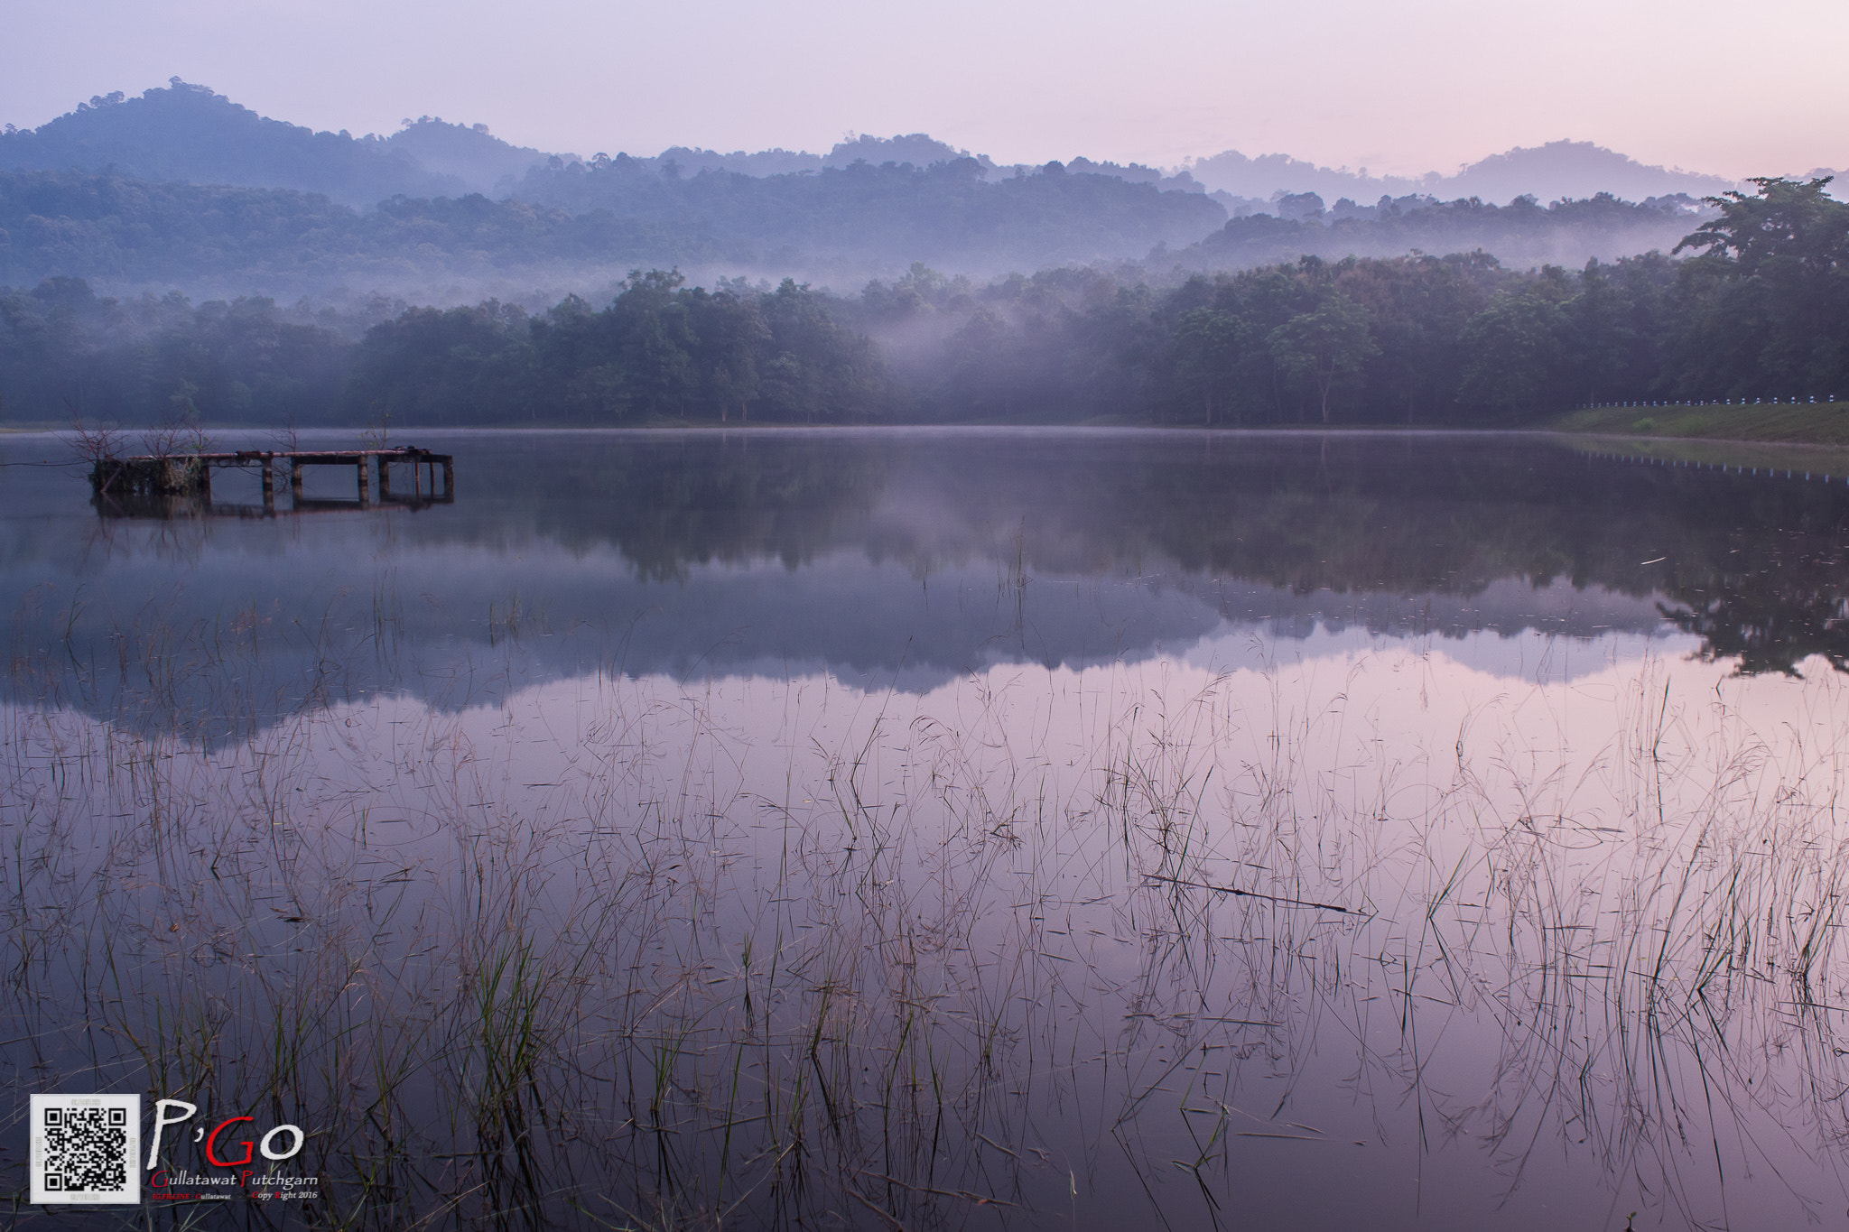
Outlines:
{"label": "dark green shoreline forest with drifting mist along the far bank", "polygon": [[636,272],[610,303],[337,312],[0,292],[15,421],[1485,423],[1646,399],[1849,392],[1849,205],[1758,181],[1675,260],[1485,253],[1176,275],[919,264],[858,296]]}

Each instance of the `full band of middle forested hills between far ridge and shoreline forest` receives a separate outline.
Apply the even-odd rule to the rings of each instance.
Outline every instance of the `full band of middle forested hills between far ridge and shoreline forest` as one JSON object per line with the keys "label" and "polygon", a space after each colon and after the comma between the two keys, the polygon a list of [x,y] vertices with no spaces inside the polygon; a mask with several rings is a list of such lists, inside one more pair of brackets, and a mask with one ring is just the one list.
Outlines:
{"label": "full band of middle forested hills between far ridge and shoreline forest", "polygon": [[479,194],[355,211],[281,188],[0,174],[0,283],[81,277],[111,290],[287,297],[344,286],[453,299],[536,284],[601,292],[645,266],[699,279],[797,273],[843,290],[913,262],[984,275],[1143,260],[1169,273],[1305,253],[1483,249],[1514,268],[1583,266],[1668,249],[1699,222],[1686,199],[1540,209],[1409,198],[1329,223],[1261,214],[1222,227],[1224,212],[1200,194],[1056,168],[982,183],[973,161],[775,177],[671,179],[619,166],[553,175],[581,212]]}

